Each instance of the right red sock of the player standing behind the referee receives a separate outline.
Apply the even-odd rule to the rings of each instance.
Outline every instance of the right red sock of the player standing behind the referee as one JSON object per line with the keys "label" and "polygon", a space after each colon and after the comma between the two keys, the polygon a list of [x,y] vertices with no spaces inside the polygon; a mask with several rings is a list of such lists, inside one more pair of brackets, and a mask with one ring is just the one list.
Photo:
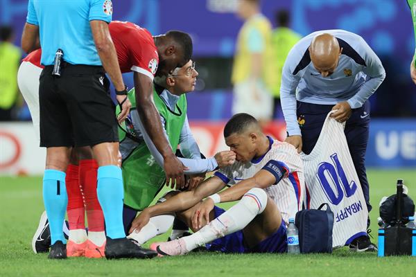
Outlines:
{"label": "right red sock of the player standing behind the referee", "polygon": [[80,161],[80,184],[85,196],[88,230],[93,232],[104,231],[103,210],[97,197],[97,170],[95,160]]}

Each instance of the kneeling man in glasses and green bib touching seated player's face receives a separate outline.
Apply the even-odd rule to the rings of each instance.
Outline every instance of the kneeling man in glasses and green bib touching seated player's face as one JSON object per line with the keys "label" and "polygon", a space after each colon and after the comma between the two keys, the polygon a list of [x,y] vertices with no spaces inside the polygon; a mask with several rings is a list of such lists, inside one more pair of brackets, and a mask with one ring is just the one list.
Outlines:
{"label": "kneeling man in glasses and green bib touching seated player's face", "polygon": [[[198,72],[195,63],[176,68],[173,73],[162,78],[155,77],[153,99],[160,114],[164,134],[173,150],[180,146],[185,159],[180,158],[190,175],[187,186],[191,189],[205,179],[205,172],[214,171],[234,163],[236,154],[223,151],[209,159],[201,159],[200,149],[196,143],[187,118],[186,93],[195,89]],[[137,211],[150,205],[166,182],[164,159],[148,136],[135,105],[135,90],[128,93],[132,108],[130,115],[122,124],[119,132],[120,151],[123,157],[121,169],[124,184],[123,222],[125,232],[130,229]],[[201,175],[201,173],[203,173]],[[162,230],[161,230],[162,231]]]}

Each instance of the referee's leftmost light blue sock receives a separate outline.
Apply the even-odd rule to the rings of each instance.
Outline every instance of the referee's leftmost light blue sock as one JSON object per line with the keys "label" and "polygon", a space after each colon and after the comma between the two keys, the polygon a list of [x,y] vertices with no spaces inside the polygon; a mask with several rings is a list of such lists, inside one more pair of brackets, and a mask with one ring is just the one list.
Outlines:
{"label": "referee's leftmost light blue sock", "polygon": [[51,230],[51,244],[60,240],[67,242],[62,232],[62,224],[67,211],[68,195],[65,186],[65,172],[46,169],[43,179],[43,197],[46,215]]}

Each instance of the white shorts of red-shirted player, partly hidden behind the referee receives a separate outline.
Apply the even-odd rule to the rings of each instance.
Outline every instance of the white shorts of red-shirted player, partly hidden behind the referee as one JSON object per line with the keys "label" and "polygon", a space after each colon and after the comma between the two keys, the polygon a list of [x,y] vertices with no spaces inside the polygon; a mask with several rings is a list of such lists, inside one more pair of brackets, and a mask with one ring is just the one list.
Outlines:
{"label": "white shorts of red-shirted player, partly hidden behind the referee", "polygon": [[42,68],[31,62],[22,62],[17,72],[17,84],[31,111],[37,141],[40,141],[39,77]]}

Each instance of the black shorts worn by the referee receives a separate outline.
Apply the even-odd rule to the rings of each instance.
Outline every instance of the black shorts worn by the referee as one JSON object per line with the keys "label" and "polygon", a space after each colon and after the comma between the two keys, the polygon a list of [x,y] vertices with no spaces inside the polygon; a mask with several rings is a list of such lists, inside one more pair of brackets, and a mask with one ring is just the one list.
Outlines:
{"label": "black shorts worn by the referee", "polygon": [[102,66],[64,64],[61,76],[40,75],[40,146],[93,146],[118,142],[115,105]]}

